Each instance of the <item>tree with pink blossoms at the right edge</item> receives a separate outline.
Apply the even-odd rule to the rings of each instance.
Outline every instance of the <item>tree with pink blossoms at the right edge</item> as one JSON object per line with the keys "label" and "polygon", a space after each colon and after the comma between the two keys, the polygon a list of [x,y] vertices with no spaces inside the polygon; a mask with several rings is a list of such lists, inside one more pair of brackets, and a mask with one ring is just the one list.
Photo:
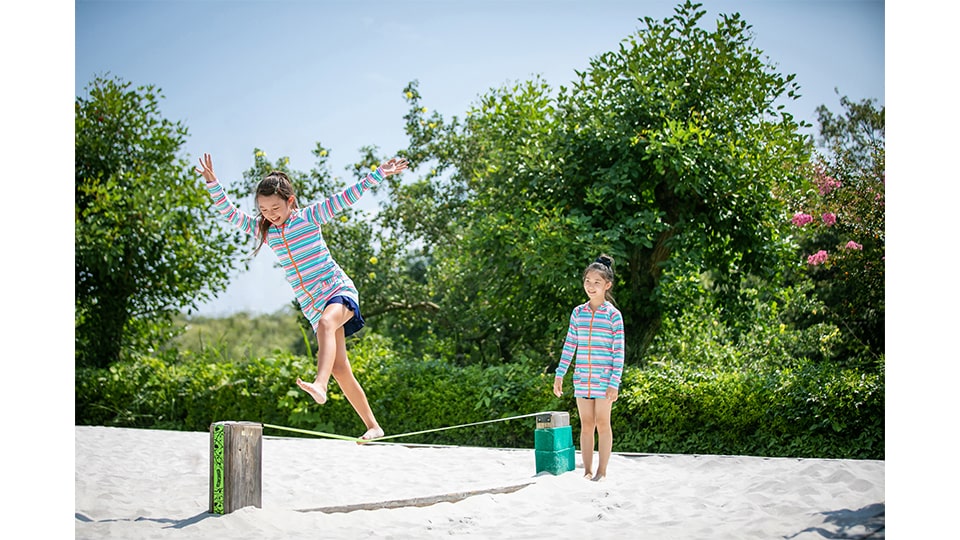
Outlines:
{"label": "tree with pink blossoms at the right edge", "polygon": [[885,347],[885,109],[872,99],[840,102],[842,115],[817,109],[823,153],[791,201],[795,260],[826,308],[798,324],[834,324],[834,356],[875,365]]}

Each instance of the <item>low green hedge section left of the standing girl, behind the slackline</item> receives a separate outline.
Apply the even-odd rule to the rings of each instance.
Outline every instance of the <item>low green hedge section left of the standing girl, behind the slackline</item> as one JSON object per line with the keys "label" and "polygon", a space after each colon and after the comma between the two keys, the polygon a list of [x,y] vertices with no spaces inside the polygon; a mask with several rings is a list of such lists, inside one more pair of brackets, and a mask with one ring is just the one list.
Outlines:
{"label": "low green hedge section left of the standing girl, behind the slackline", "polygon": [[[369,334],[350,361],[380,423],[414,432],[546,410],[550,381],[532,362],[461,369],[439,359],[404,360]],[[219,357],[219,353],[209,353]],[[277,354],[244,363],[201,357],[165,363],[151,357],[76,372],[76,422],[205,431],[212,422],[249,420],[334,433],[363,423],[332,383],[322,407],[294,380],[315,373],[313,359]],[[415,414],[414,414],[415,413]],[[533,421],[517,420],[412,436],[404,442],[532,447]]]}

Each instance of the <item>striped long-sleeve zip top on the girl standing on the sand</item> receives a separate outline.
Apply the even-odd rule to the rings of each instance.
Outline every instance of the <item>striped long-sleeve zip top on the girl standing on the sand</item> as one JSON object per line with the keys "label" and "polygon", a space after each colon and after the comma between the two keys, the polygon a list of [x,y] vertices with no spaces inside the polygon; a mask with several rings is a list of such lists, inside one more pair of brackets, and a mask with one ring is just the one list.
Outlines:
{"label": "striped long-sleeve zip top on the girl standing on the sand", "polygon": [[610,302],[596,311],[590,303],[573,308],[556,376],[563,378],[576,354],[574,396],[604,398],[607,388],[620,388],[623,374],[623,316]]}

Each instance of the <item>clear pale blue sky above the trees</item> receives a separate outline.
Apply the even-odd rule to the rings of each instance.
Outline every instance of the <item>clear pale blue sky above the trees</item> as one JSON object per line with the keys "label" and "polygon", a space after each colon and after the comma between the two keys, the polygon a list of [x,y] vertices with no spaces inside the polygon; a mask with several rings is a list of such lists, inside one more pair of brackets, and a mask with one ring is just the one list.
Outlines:
{"label": "clear pale blue sky above the trees", "polygon": [[[210,152],[221,181],[237,182],[254,148],[314,165],[317,141],[336,175],[357,149],[406,145],[402,89],[419,81],[423,104],[463,117],[485,91],[541,75],[557,87],[574,70],[663,19],[676,2],[486,0],[76,2],[75,92],[96,75],[153,84],[162,114],[189,129],[184,152]],[[877,0],[708,1],[710,27],[739,12],[755,46],[795,73],[803,98],[792,112],[839,111],[834,92],[884,95],[884,5]],[[361,208],[374,211],[365,198]],[[211,213],[211,219],[220,219]],[[336,246],[331,246],[336,257]],[[293,298],[275,256],[263,251],[201,315],[273,312]],[[361,291],[362,293],[362,291]]]}

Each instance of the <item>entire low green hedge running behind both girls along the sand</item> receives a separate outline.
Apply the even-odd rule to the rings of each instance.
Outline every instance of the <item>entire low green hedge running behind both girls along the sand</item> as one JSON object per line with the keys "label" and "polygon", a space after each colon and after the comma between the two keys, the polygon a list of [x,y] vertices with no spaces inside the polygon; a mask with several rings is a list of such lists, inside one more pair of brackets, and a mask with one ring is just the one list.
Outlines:
{"label": "entire low green hedge running behind both girls along the sand", "polygon": [[[552,394],[552,373],[521,358],[457,366],[406,359],[376,334],[351,343],[350,360],[388,434],[568,411],[579,436],[576,401]],[[246,420],[359,435],[363,423],[331,384],[316,405],[294,381],[315,373],[313,359],[277,354],[244,363],[143,357],[108,369],[76,371],[79,425],[207,431]],[[569,388],[570,382],[567,381]],[[657,363],[624,372],[614,405],[618,452],[884,458],[882,372],[865,375],[799,363],[789,369]],[[532,418],[436,431],[396,442],[533,447]],[[268,428],[268,435],[297,436]]]}

